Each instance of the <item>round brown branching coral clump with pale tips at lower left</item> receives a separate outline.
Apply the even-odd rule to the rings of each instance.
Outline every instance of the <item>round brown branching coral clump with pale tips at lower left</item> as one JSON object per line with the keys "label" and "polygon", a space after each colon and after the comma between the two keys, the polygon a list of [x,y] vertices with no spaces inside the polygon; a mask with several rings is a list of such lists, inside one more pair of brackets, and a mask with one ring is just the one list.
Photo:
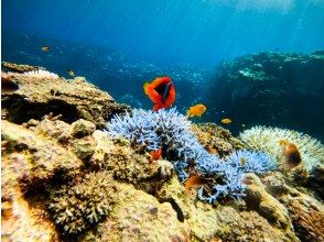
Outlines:
{"label": "round brown branching coral clump with pale tips at lower left", "polygon": [[50,211],[64,233],[78,233],[100,221],[111,210],[116,193],[106,173],[93,173],[83,183],[63,186],[53,194]]}

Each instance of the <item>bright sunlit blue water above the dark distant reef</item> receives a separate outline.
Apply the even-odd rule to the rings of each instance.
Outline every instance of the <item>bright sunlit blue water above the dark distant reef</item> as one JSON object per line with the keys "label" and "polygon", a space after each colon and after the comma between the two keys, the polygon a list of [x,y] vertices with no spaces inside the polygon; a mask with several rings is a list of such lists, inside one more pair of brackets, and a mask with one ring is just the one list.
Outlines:
{"label": "bright sunlit blue water above the dark distant reef", "polygon": [[203,67],[259,51],[324,46],[323,0],[4,0],[2,31]]}

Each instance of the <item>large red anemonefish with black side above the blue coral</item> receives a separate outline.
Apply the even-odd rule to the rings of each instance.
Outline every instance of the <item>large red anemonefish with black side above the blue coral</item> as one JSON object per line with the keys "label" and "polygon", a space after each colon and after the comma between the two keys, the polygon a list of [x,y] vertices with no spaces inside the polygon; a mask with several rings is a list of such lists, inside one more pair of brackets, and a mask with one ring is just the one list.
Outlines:
{"label": "large red anemonefish with black side above the blue coral", "polygon": [[175,89],[170,77],[159,77],[143,85],[145,95],[155,103],[153,110],[169,108],[175,100]]}

